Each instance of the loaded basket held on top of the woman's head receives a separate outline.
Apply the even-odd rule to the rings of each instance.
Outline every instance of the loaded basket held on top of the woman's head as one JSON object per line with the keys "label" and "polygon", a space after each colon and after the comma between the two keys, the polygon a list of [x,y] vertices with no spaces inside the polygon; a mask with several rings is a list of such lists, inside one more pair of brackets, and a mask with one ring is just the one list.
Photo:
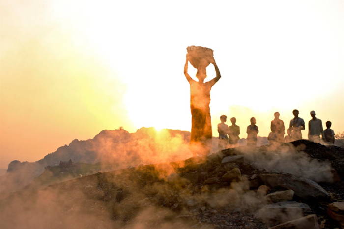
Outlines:
{"label": "loaded basket held on top of the woman's head", "polygon": [[189,61],[194,68],[206,68],[213,58],[213,50],[201,46],[189,46],[188,51]]}

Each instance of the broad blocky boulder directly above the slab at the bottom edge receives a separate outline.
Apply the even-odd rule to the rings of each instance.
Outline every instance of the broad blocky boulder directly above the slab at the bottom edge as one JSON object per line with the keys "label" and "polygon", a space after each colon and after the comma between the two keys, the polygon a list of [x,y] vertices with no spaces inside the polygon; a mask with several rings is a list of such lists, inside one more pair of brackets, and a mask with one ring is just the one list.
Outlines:
{"label": "broad blocky boulder directly above the slab at the bottom edge", "polygon": [[261,219],[267,226],[271,227],[298,219],[309,212],[311,212],[311,208],[307,204],[284,201],[265,205],[258,210],[256,217]]}

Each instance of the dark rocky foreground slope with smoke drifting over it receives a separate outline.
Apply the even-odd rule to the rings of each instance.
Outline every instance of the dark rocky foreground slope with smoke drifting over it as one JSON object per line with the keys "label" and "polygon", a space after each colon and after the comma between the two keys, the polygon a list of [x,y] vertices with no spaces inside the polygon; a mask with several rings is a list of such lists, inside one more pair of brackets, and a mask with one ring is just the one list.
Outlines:
{"label": "dark rocky foreground slope with smoke drifting over it", "polygon": [[0,228],[339,228],[343,164],[299,140],[96,173],[2,195]]}

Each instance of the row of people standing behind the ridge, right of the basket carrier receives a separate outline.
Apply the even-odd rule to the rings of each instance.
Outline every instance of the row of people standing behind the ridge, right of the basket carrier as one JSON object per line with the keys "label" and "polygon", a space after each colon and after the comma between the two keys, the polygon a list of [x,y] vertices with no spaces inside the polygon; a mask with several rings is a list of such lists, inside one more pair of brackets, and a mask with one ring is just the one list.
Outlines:
{"label": "row of people standing behind the ridge, right of the basket carrier", "polygon": [[[274,120],[271,121],[268,140],[273,144],[281,144],[284,142],[292,142],[302,139],[301,131],[305,129],[305,121],[299,117],[299,111],[293,110],[294,118],[290,120],[289,128],[287,129],[287,136],[285,137],[285,125],[284,122],[279,118],[280,113],[275,112]],[[312,119],[308,122],[308,139],[315,143],[320,143],[321,139],[325,143],[334,143],[335,133],[331,130],[332,123],[330,121],[326,122],[326,129],[323,130],[322,122],[320,119],[316,118],[315,111],[310,112]],[[220,117],[221,123],[218,124],[217,130],[219,132],[219,146],[225,148],[227,144],[237,145],[240,134],[240,127],[236,125],[236,118],[230,118],[232,123],[231,126],[225,124],[227,121],[227,116],[222,115]],[[259,129],[256,125],[256,118],[252,117],[250,119],[251,124],[247,126],[247,146],[256,146],[258,140]],[[321,135],[321,138],[320,138]]]}

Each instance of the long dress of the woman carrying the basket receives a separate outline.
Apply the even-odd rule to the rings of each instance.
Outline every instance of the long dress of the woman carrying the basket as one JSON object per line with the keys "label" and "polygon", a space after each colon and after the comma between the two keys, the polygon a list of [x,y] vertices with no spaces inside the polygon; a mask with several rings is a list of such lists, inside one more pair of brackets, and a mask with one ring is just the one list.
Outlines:
{"label": "long dress of the woman carrying the basket", "polygon": [[211,139],[210,90],[215,80],[205,83],[190,80],[190,109],[192,115],[190,142],[205,143]]}

